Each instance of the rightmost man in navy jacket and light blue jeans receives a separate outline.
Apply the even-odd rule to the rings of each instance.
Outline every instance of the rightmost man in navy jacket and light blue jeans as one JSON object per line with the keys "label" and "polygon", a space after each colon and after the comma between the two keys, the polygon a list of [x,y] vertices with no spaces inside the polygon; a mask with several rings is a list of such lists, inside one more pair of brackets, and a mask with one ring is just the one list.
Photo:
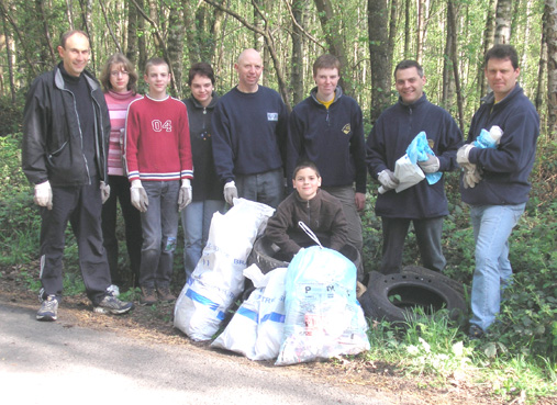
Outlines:
{"label": "rightmost man in navy jacket and light blue jeans", "polygon": [[[457,154],[465,168],[475,165],[481,178],[461,183],[463,201],[470,205],[476,241],[469,335],[481,337],[499,313],[501,290],[512,275],[508,239],[524,212],[534,165],[539,119],[517,85],[519,57],[510,45],[495,45],[486,54],[484,74],[493,90],[474,114],[468,143]],[[481,130],[499,126],[497,148],[475,147]],[[466,170],[466,169],[465,169]],[[466,178],[466,173],[463,179]]]}

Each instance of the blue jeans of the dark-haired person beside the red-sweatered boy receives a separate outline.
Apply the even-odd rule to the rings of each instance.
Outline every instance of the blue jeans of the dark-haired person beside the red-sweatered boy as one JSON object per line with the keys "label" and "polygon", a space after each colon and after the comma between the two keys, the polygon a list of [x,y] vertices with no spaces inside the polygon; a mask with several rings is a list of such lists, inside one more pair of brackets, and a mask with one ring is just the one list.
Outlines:
{"label": "blue jeans of the dark-haired person beside the red-sweatered boy", "polygon": [[183,228],[183,268],[186,280],[189,279],[198,265],[203,247],[209,237],[211,220],[215,212],[224,213],[224,201],[204,200],[193,201],[181,212],[181,227]]}

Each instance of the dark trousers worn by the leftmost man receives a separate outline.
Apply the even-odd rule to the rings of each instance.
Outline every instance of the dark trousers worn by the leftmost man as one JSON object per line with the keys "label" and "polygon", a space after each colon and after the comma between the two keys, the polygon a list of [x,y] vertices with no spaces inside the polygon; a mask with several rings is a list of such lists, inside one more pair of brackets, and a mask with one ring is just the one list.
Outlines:
{"label": "dark trousers worn by the leftmost man", "polygon": [[101,232],[99,181],[91,185],[53,187],[53,209],[41,207],[41,282],[43,297],[62,296],[62,258],[68,222],[76,236],[87,296],[97,305],[107,295],[110,270]]}

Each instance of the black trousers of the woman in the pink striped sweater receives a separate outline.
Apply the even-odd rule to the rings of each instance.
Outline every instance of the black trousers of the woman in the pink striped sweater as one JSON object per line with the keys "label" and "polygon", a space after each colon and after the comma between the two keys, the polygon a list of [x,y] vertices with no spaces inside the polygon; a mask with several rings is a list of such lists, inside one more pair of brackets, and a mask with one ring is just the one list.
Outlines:
{"label": "black trousers of the woman in the pink striped sweater", "polygon": [[[109,259],[110,275],[116,285],[131,283],[140,285],[140,265],[142,257],[142,220],[140,212],[132,205],[130,195],[130,181],[125,176],[109,176],[110,198],[102,205],[102,237],[104,249]],[[125,246],[130,257],[131,273],[120,271],[118,267],[118,237],[116,237],[116,202],[120,202],[125,226]]]}

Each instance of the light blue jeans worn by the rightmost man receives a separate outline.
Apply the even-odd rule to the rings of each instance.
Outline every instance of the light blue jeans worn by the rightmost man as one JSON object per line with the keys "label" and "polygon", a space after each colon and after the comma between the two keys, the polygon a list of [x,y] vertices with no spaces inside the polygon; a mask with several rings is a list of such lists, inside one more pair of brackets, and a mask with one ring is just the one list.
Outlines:
{"label": "light blue jeans worn by the rightmost man", "polygon": [[512,275],[508,239],[525,206],[526,203],[470,206],[476,241],[470,324],[482,330],[495,320],[501,303],[501,291]]}

